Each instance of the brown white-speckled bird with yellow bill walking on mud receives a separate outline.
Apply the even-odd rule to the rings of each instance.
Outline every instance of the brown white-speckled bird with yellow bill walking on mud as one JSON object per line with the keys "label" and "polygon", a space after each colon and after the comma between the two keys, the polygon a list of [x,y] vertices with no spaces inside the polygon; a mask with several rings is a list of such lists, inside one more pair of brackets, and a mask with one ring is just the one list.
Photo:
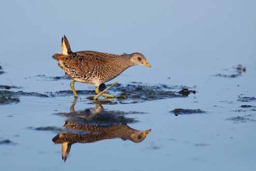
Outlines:
{"label": "brown white-speckled bird with yellow bill walking on mud", "polygon": [[[151,67],[145,56],[138,52],[121,55],[96,51],[72,52],[66,36],[62,38],[62,54],[56,53],[52,58],[59,61],[59,66],[74,81],[96,86],[97,94],[97,88],[101,83],[116,78],[125,69],[134,65]],[[76,96],[73,88],[74,82],[72,90]]]}

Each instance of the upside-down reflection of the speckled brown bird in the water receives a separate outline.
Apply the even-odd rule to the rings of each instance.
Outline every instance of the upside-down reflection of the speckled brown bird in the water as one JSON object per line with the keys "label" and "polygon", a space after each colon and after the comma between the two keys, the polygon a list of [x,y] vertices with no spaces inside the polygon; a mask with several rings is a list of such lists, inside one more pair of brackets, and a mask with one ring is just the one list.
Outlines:
{"label": "upside-down reflection of the speckled brown bird in the water", "polygon": [[[75,98],[75,101],[70,107],[70,113],[76,112],[76,102],[77,98]],[[101,115],[103,111],[105,110],[100,101],[95,101],[95,108],[92,109],[90,115],[88,115],[87,112],[87,115],[83,118],[88,119],[95,117],[96,115]],[[104,114],[105,113],[103,112],[103,115]],[[109,115],[107,115],[107,117],[109,117]],[[55,144],[62,144],[62,160],[66,161],[71,146],[75,143],[95,143],[96,141],[114,138],[121,138],[122,140],[131,140],[134,143],[140,143],[147,137],[148,133],[151,132],[150,129],[146,131],[139,131],[132,129],[126,124],[118,124],[117,122],[109,124],[109,120],[107,123],[108,125],[101,125],[95,123],[88,124],[88,122],[81,123],[81,121],[79,123],[76,121],[66,121],[63,129],[65,132],[59,133],[52,138],[52,141]]]}

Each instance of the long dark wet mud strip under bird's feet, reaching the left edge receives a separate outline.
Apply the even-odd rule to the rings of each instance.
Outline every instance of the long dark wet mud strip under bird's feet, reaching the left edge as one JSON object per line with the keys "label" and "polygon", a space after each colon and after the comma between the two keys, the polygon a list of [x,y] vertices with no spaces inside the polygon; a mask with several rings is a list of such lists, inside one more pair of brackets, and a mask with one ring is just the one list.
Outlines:
{"label": "long dark wet mud strip under bird's feet, reaching the left edge", "polygon": [[[108,86],[108,85],[107,85]],[[99,90],[102,91],[106,88],[105,84],[101,84]],[[2,104],[8,104],[8,102],[19,102],[19,96],[37,96],[37,97],[56,97],[56,96],[73,96],[72,90],[62,90],[57,92],[24,92],[24,91],[10,91],[10,89],[21,89],[17,86],[0,86],[0,97],[2,98]],[[174,90],[180,91],[174,91]],[[102,99],[101,104],[135,104],[146,101],[154,101],[158,99],[166,98],[178,98],[187,97],[189,94],[195,94],[195,90],[189,90],[190,88],[184,86],[170,87],[166,84],[148,86],[140,82],[133,82],[133,84],[117,84],[109,90],[110,94],[115,95],[115,98]],[[94,104],[93,97],[95,95],[94,90],[77,90],[78,95],[87,95],[87,99],[91,102],[88,104]],[[5,97],[5,98],[4,98]],[[17,99],[15,101],[14,99]],[[6,103],[3,103],[3,102]]]}

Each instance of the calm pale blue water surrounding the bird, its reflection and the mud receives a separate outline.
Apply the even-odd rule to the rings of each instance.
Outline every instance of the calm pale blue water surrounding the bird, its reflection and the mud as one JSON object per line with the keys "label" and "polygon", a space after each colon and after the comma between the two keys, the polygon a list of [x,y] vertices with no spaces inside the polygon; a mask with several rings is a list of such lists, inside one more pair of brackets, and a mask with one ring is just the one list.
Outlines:
{"label": "calm pale blue water surrounding the bird, its reflection and the mud", "polygon": [[[62,76],[51,55],[61,51],[65,34],[73,51],[143,53],[152,68],[135,66],[114,81],[195,87],[188,98],[138,104],[103,105],[108,110],[140,111],[125,117],[136,130],[152,131],[141,143],[109,139],[74,144],[66,162],[54,131],[28,127],[62,127],[73,96],[21,96],[19,104],[0,106],[0,166],[3,170],[255,170],[256,113],[237,112],[238,96],[255,97],[255,1],[8,1],[0,7],[0,84],[26,92],[69,90],[70,80],[48,81],[36,75]],[[233,74],[242,64],[247,72]],[[170,77],[170,79],[167,79]],[[76,83],[78,90],[93,90]],[[13,91],[16,91],[13,89]],[[94,108],[81,95],[75,110]],[[204,114],[170,113],[175,108]],[[234,122],[229,117],[250,115]],[[10,117],[12,116],[12,117]]]}

